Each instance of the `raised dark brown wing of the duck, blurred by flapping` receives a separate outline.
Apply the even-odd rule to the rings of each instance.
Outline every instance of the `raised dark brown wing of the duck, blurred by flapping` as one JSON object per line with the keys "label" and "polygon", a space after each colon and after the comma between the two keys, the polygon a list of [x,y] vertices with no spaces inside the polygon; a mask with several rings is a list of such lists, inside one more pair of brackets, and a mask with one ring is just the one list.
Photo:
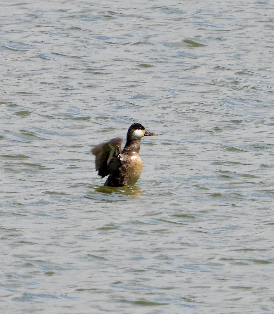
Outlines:
{"label": "raised dark brown wing of the duck, blurred by flapping", "polygon": [[113,173],[121,164],[120,153],[122,152],[122,139],[113,138],[112,140],[101,143],[92,149],[95,155],[95,169],[98,176],[104,176]]}

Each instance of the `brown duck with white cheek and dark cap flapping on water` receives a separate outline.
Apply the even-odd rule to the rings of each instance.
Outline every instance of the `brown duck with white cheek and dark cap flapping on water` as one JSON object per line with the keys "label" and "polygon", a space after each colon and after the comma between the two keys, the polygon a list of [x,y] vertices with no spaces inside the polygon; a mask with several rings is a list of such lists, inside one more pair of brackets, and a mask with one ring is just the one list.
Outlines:
{"label": "brown duck with white cheek and dark cap flapping on water", "polygon": [[133,186],[139,179],[143,163],[139,156],[141,138],[144,136],[156,136],[150,133],[140,123],[134,123],[129,127],[127,142],[122,150],[122,139],[101,143],[92,149],[95,155],[95,168],[101,178],[108,175],[105,187]]}

